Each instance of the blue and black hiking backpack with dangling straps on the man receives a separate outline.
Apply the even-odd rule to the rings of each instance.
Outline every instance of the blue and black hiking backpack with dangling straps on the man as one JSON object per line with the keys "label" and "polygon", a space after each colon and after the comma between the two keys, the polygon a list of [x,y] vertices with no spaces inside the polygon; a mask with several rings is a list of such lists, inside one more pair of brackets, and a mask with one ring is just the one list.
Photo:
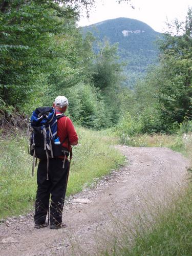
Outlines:
{"label": "blue and black hiking backpack with dangling straps on the man", "polygon": [[[57,120],[65,115],[56,116],[55,109],[49,106],[40,107],[33,111],[30,119],[32,133],[30,136],[30,155],[33,156],[32,176],[34,166],[38,159],[47,159],[47,170],[49,168],[49,158],[61,155],[69,155],[69,152],[63,150],[62,141],[60,145],[55,145],[54,140],[57,138]],[[35,162],[36,158],[36,162]],[[47,174],[47,179],[48,174]]]}

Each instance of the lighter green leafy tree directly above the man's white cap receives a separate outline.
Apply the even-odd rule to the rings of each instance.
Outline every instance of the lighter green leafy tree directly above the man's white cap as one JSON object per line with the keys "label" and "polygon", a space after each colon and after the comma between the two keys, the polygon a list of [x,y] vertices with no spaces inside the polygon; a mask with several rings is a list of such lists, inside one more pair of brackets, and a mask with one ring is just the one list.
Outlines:
{"label": "lighter green leafy tree directly above the man's white cap", "polygon": [[65,36],[57,36],[56,41],[61,55],[54,58],[54,71],[47,79],[47,104],[52,103],[50,99],[54,98],[55,94],[65,94],[68,88],[74,88],[83,81],[88,82],[88,67],[93,61],[91,35],[83,38],[79,29],[73,28]]}

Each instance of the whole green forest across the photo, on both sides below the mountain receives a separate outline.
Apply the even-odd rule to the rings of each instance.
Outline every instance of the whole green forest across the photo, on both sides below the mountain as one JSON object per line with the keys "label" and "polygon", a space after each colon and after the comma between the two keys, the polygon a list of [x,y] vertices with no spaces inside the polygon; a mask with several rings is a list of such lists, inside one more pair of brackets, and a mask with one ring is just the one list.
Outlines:
{"label": "whole green forest across the photo, on both sides below the mountain", "polygon": [[[69,98],[69,115],[84,127],[116,127],[121,134],[172,133],[191,120],[191,9],[176,34],[159,40],[158,66],[129,90],[122,86],[117,45],[82,37],[78,9],[65,1],[1,4],[1,123],[13,113]],[[173,65],[174,63],[174,65]],[[117,125],[117,126],[116,126]],[[129,128],[130,127],[130,128]],[[131,130],[130,130],[131,129]]]}

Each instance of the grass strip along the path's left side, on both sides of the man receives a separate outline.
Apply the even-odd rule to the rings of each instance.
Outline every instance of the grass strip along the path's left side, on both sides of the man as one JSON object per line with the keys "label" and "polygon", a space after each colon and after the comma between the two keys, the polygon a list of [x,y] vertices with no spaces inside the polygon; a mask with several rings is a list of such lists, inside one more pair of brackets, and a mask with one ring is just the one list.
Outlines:
{"label": "grass strip along the path's left side, on both sides of the man", "polygon": [[[74,147],[67,196],[91,186],[124,161],[104,133],[78,128],[79,145]],[[0,219],[24,214],[32,208],[36,195],[36,169],[31,176],[32,157],[27,136],[0,137]]]}

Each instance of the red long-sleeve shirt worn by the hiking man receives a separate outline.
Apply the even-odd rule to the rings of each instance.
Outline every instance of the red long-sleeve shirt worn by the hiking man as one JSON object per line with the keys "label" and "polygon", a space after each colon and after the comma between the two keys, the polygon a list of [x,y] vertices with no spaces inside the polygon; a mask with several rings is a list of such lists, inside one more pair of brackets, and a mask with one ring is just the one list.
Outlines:
{"label": "red long-sleeve shirt worn by the hiking man", "polygon": [[[61,113],[56,111],[56,115],[59,114]],[[61,143],[67,138],[62,146],[68,148],[69,151],[71,151],[71,144],[78,141],[75,127],[69,117],[64,116],[57,120],[57,137]]]}

